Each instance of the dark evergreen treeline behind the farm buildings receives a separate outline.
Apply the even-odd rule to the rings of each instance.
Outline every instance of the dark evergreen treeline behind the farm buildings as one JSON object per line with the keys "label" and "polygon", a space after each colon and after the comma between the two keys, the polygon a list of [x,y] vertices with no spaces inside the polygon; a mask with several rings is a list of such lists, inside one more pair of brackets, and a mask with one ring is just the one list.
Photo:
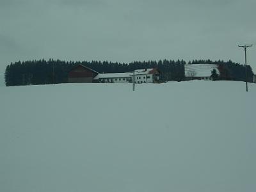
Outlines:
{"label": "dark evergreen treeline behind the farm buildings", "polygon": [[[244,66],[232,61],[193,60],[194,63],[215,63],[222,67],[222,76],[227,79],[244,81]],[[135,69],[159,68],[160,79],[164,81],[184,81],[184,60],[134,61],[132,63],[113,63],[108,61],[61,61],[33,60],[17,61],[6,67],[4,74],[6,86],[27,84],[67,83],[68,71],[82,64],[99,73],[132,72]],[[248,67],[248,81],[252,81],[252,68]]]}

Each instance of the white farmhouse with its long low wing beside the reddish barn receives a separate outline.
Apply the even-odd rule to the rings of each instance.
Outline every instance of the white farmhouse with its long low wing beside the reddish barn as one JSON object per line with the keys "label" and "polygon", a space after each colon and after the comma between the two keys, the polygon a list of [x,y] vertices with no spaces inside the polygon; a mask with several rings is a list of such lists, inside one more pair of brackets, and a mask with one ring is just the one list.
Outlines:
{"label": "white farmhouse with its long low wing beside the reddish barn", "polygon": [[159,81],[159,70],[156,68],[138,69],[133,72],[98,74],[94,77],[94,82],[99,83],[157,83]]}

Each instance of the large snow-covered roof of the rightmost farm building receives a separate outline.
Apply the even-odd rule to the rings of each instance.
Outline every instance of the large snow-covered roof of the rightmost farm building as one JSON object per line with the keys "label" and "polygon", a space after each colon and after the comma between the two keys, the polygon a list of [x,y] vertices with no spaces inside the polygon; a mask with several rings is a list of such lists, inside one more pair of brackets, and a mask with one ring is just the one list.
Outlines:
{"label": "large snow-covered roof of the rightmost farm building", "polygon": [[185,77],[211,77],[213,69],[220,74],[216,64],[186,64]]}

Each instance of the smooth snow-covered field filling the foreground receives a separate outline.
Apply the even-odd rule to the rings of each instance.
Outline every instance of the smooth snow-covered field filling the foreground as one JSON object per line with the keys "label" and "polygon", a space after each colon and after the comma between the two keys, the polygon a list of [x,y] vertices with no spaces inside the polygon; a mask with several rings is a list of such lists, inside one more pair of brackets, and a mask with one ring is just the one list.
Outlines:
{"label": "smooth snow-covered field filling the foreground", "polygon": [[255,191],[256,84],[0,88],[0,191]]}

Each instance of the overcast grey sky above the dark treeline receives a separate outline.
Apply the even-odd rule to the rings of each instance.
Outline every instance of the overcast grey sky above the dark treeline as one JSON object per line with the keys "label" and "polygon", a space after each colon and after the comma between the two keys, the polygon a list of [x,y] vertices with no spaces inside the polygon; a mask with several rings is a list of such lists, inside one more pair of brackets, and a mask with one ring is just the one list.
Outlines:
{"label": "overcast grey sky above the dark treeline", "polygon": [[[0,84],[10,62],[211,59],[244,63],[255,0],[0,0]],[[248,64],[256,72],[256,45]]]}

